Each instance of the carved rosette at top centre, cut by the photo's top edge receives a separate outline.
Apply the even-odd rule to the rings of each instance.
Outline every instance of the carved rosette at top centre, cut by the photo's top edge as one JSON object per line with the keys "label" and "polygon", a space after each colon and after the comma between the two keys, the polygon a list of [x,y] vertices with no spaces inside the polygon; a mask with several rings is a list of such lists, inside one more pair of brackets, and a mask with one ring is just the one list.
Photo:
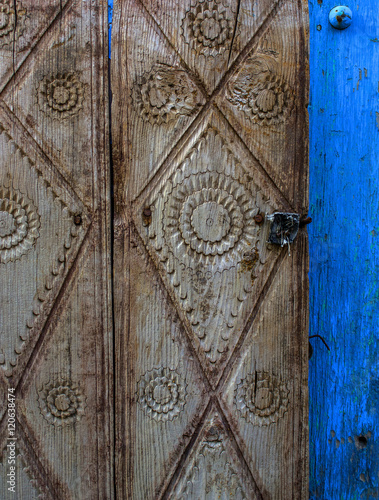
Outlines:
{"label": "carved rosette at top centre, cut by the photo's top edge", "polygon": [[234,25],[235,14],[228,2],[198,0],[187,11],[181,33],[196,54],[215,57],[229,49]]}

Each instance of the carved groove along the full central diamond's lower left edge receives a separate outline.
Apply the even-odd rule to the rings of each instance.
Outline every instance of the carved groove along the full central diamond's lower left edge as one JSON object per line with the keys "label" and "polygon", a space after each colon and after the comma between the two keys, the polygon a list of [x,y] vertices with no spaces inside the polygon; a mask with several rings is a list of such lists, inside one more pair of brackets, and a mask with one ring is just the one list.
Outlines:
{"label": "carved groove along the full central diamond's lower left edge", "polygon": [[183,330],[185,331],[185,339],[186,339],[188,348],[189,348],[191,354],[194,356],[194,359],[196,359],[196,362],[198,364],[198,368],[201,370],[201,373],[203,374],[204,385],[206,386],[206,389],[208,392],[212,391],[210,381],[208,380],[208,377],[206,376],[206,374],[204,372],[199,355],[198,355],[195,347],[192,345],[191,335],[189,333],[191,331],[191,328],[188,325],[188,320],[185,316],[182,315],[182,311],[181,311],[181,308],[179,307],[179,304],[176,304],[176,298],[175,298],[174,292],[171,294],[170,287],[168,286],[168,284],[165,281],[166,277],[165,277],[164,273],[161,272],[161,266],[159,265],[158,262],[156,262],[156,257],[152,254],[152,252],[150,252],[149,248],[146,247],[145,242],[144,242],[140,232],[138,231],[138,227],[136,227],[134,221],[130,222],[130,226],[131,226],[131,230],[134,233],[134,235],[137,236],[137,239],[139,242],[139,247],[143,248],[146,256],[148,257],[148,261],[153,264],[153,267],[155,270],[155,273],[154,273],[155,277],[157,280],[159,280],[159,283],[161,285],[163,285],[163,287],[166,291],[167,297],[170,299],[171,307],[176,312],[177,317],[178,317],[178,319],[183,327]]}

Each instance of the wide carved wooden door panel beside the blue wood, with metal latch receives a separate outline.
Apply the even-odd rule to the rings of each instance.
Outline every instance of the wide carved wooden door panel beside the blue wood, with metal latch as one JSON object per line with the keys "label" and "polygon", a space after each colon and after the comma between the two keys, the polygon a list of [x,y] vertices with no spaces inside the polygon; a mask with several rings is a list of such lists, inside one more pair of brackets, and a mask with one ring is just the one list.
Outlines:
{"label": "wide carved wooden door panel beside the blue wood, with metal latch", "polygon": [[115,6],[119,498],[307,498],[307,22]]}

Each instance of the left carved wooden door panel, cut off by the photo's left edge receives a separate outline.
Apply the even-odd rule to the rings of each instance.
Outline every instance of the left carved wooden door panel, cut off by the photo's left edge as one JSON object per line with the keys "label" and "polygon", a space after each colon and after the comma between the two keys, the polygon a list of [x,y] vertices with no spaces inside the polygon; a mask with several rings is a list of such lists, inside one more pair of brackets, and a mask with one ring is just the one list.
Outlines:
{"label": "left carved wooden door panel, cut off by the photo's left edge", "polygon": [[106,16],[0,0],[2,499],[112,497]]}

